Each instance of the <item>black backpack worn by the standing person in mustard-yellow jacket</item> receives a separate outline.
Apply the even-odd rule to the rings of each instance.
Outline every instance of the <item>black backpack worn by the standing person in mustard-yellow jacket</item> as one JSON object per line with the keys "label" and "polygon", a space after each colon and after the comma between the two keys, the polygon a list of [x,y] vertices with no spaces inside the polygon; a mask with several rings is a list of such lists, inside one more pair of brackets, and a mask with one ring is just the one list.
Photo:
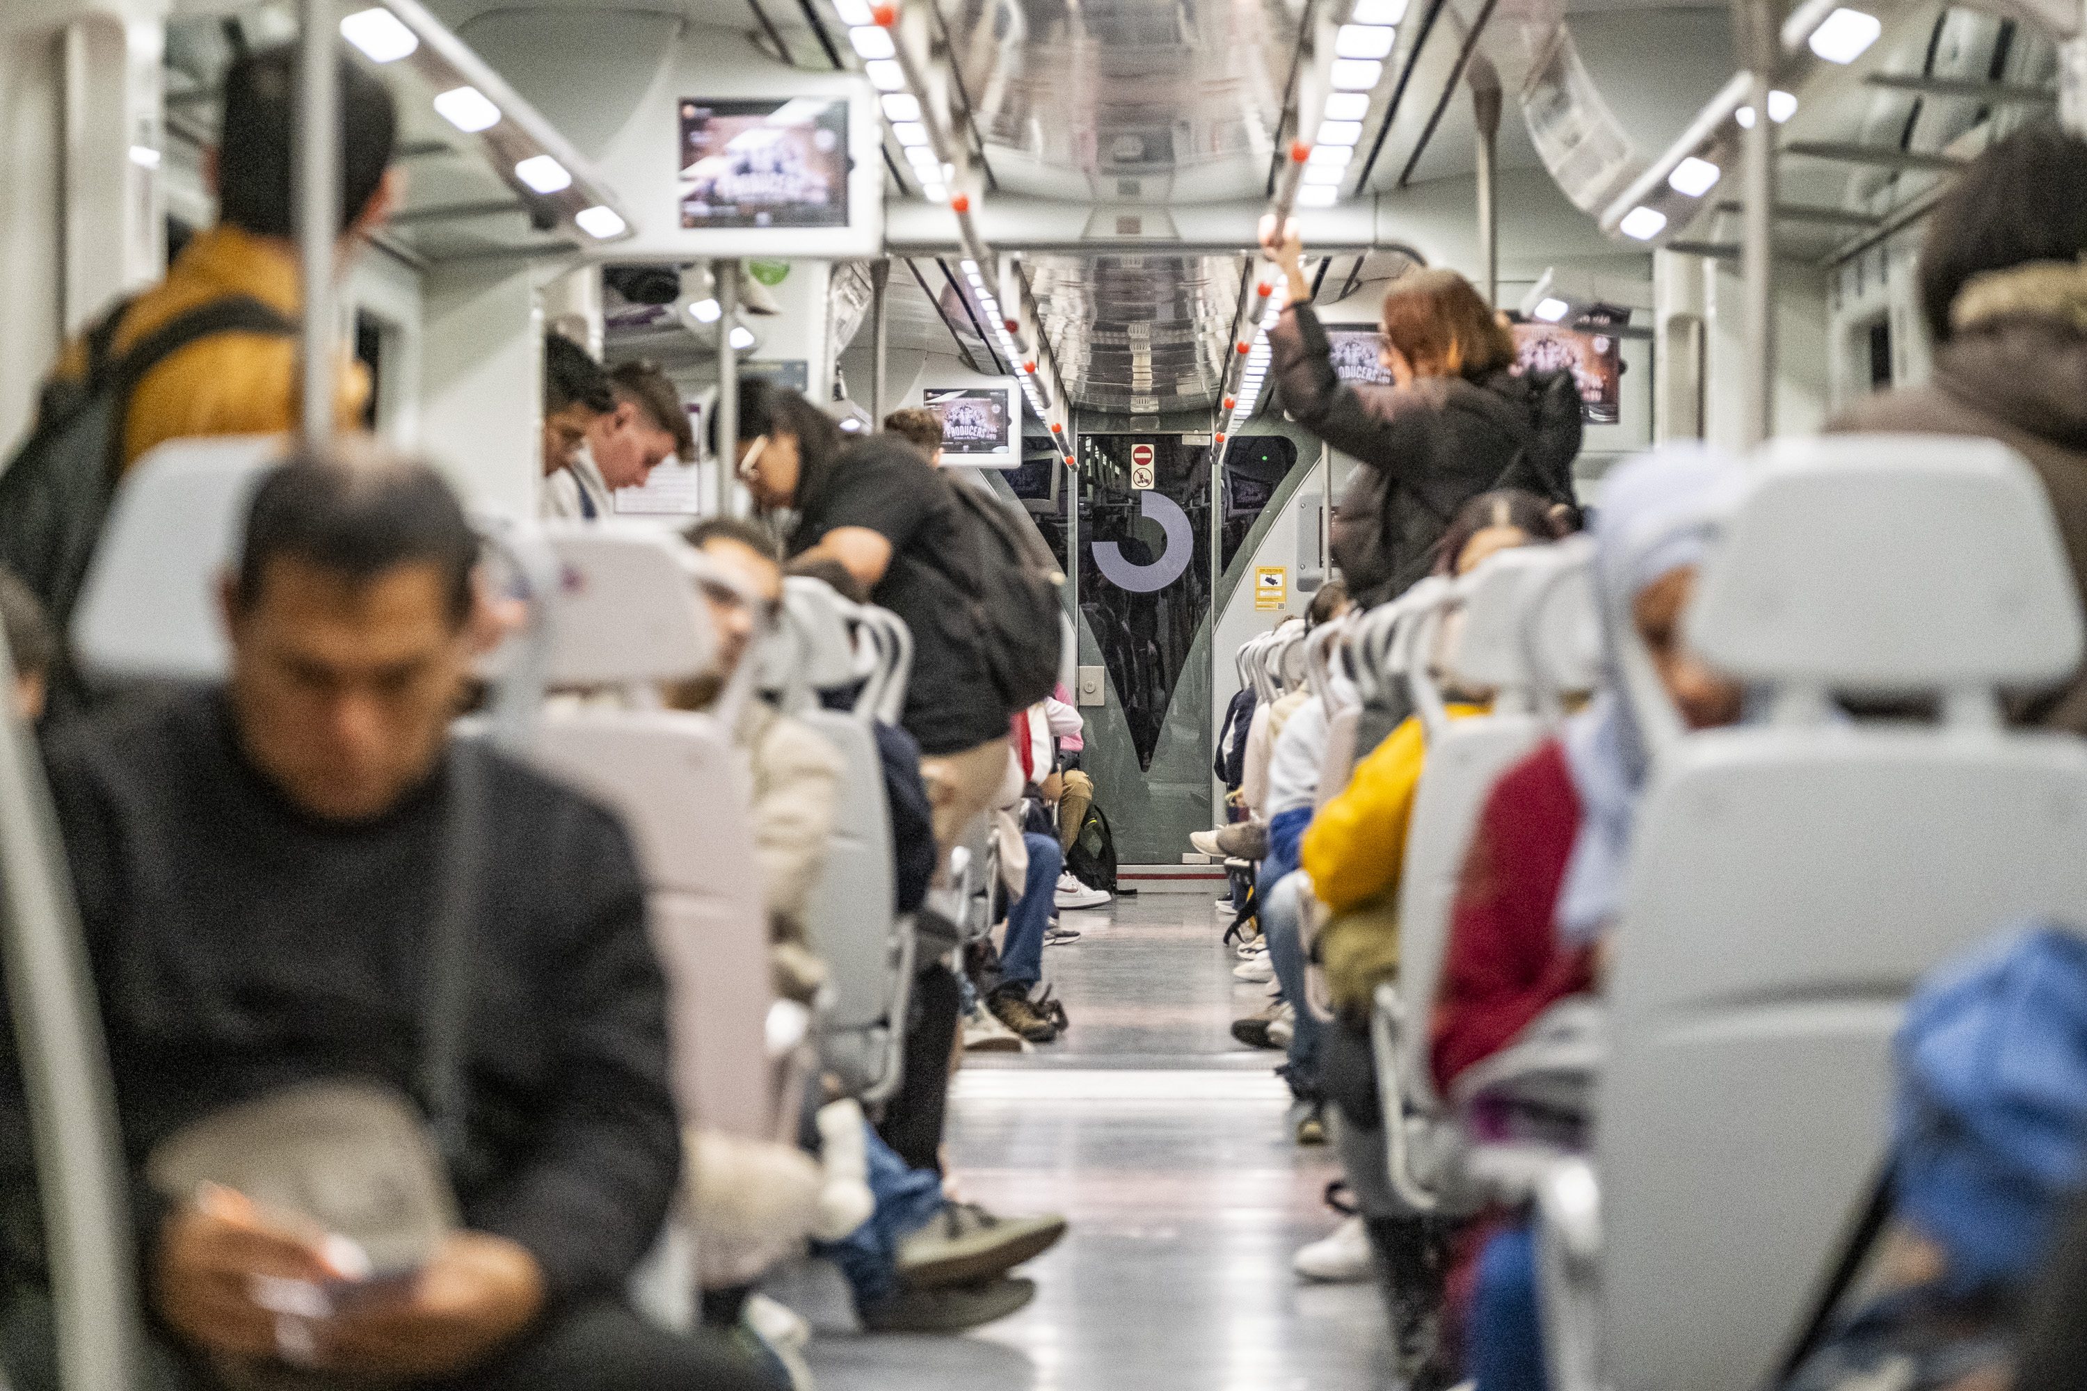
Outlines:
{"label": "black backpack worn by the standing person in mustard-yellow jacket", "polygon": [[35,428],[0,473],[0,565],[29,586],[61,634],[123,478],[123,425],[138,382],[198,338],[296,334],[284,315],[236,294],[192,309],[115,355],[127,309],[125,300],[88,330],[86,373],[44,388]]}

